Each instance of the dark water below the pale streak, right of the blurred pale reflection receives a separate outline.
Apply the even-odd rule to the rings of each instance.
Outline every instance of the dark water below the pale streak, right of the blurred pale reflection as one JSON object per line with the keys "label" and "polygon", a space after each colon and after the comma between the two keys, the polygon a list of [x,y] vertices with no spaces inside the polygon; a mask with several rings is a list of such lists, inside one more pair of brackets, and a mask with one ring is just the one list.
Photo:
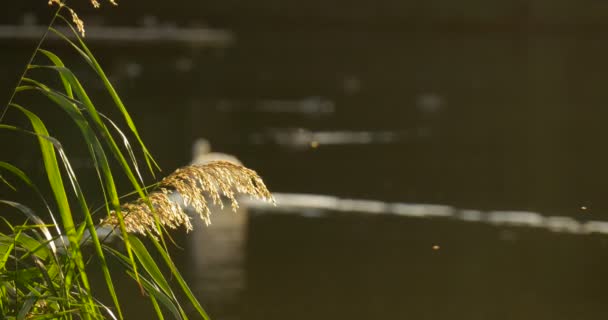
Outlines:
{"label": "dark water below the pale streak, right of the blurred pale reflection", "polygon": [[605,238],[353,215],[259,216],[249,231],[245,319],[607,314]]}

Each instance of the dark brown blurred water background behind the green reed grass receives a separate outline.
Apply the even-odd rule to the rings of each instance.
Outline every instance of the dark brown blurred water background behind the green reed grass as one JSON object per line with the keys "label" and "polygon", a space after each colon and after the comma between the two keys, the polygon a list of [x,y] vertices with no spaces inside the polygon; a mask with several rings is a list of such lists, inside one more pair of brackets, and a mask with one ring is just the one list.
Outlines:
{"label": "dark brown blurred water background behind the green reed grass", "polygon": [[[215,234],[178,236],[176,259],[212,318],[608,315],[608,2],[76,9],[165,173],[205,138],[277,193],[277,207],[220,213]],[[44,1],[3,5],[0,101],[50,15]],[[85,65],[70,67],[103,92]],[[63,130],[52,133],[94,184]],[[31,141],[2,144],[42,170]],[[146,300],[125,299],[141,318]]]}

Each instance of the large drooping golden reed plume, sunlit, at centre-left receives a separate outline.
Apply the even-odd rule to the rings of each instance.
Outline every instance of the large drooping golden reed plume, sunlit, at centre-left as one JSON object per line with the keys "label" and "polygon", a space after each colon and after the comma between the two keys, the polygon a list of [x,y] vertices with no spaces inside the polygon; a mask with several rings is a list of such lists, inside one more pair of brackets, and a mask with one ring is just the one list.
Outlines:
{"label": "large drooping golden reed plume, sunlit, at centre-left", "polygon": [[[143,199],[121,207],[127,232],[158,234],[155,214],[162,226],[171,229],[184,226],[190,231],[190,216],[184,208],[192,208],[208,225],[211,223],[210,204],[223,208],[224,196],[230,201],[233,211],[236,211],[239,207],[236,193],[274,203],[272,194],[255,171],[228,161],[213,161],[177,169],[164,178],[159,187],[158,191],[148,196],[154,212]],[[174,193],[178,193],[181,199],[173,197]],[[116,213],[112,212],[102,224],[117,226]]]}

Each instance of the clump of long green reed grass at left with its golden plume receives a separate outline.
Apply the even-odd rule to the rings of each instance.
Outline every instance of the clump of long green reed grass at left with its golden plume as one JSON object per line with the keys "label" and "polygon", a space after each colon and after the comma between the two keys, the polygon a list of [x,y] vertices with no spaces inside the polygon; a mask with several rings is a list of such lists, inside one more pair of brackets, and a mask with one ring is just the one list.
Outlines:
{"label": "clump of long green reed grass at left with its golden plume", "polygon": [[[113,0],[108,2],[116,5]],[[90,3],[96,8],[100,6],[97,0]],[[209,223],[210,205],[221,206],[222,197],[228,198],[236,208],[236,193],[272,201],[271,194],[254,171],[222,161],[178,169],[152,187],[146,187],[141,172],[146,170],[155,176],[158,165],[117,91],[86,46],[84,22],[65,0],[50,0],[48,4],[56,10],[55,14],[9,102],[0,110],[2,136],[24,135],[37,142],[44,164],[44,184],[48,183],[42,186],[34,182],[36,172],[26,172],[0,159],[0,183],[14,193],[29,192],[35,195],[30,199],[39,199],[36,204],[3,199],[5,195],[0,199],[0,210],[7,212],[12,208],[11,211],[18,211],[24,217],[23,223],[16,225],[10,222],[12,219],[0,216],[0,223],[8,230],[0,233],[1,318],[123,319],[121,298],[114,287],[115,271],[108,266],[108,259],[116,259],[122,271],[133,278],[142,295],[150,300],[159,319],[167,315],[187,319],[185,304],[193,306],[197,316],[208,319],[171,260],[166,230],[180,226],[186,230],[192,228],[191,217],[184,212],[184,207],[194,208],[200,218]],[[68,32],[60,31],[58,25],[67,26],[61,30]],[[44,49],[45,40],[51,34],[59,37],[91,68],[112,101],[116,111],[111,111],[119,115],[119,121],[127,130],[122,131],[102,113],[105,110],[98,108],[85,89],[89,84],[85,86],[62,57]],[[49,76],[59,79],[59,85],[45,80]],[[56,112],[67,114],[71,125],[78,130],[82,138],[80,147],[88,151],[103,194],[102,219],[93,218],[95,210],[72,168],[69,150],[50,133],[53,128],[47,128],[47,123],[36,113],[38,109],[22,102],[30,101],[28,98],[32,96],[42,97],[44,108],[53,107]],[[26,120],[27,125],[6,123],[5,116],[9,113]],[[143,157],[145,168],[138,166],[136,155]],[[110,165],[111,161],[117,168]],[[116,187],[118,179],[129,181],[136,199],[122,201]],[[27,188],[16,187],[14,181]],[[50,191],[41,191],[45,189]],[[173,195],[179,195],[181,200],[175,201]],[[32,209],[34,207],[44,208],[44,212]],[[108,237],[120,239],[124,249],[108,245],[104,241]],[[149,238],[155,253],[150,253],[139,237]],[[85,245],[93,250],[84,251]],[[154,260],[153,255],[160,257],[160,262]],[[111,301],[97,298],[100,289],[92,287],[88,276],[91,261],[99,264]],[[161,270],[168,270],[169,274]],[[167,278],[176,285],[171,285]]]}

